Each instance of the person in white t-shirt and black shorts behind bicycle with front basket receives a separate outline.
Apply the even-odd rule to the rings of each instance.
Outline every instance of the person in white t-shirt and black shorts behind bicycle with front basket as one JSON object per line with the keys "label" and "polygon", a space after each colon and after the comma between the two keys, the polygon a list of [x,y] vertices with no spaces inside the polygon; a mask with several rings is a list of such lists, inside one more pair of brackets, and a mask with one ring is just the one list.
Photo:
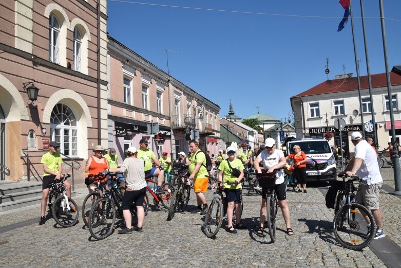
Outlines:
{"label": "person in white t-shirt and black shorts behind bicycle with front basket", "polygon": [[[290,222],[290,209],[286,200],[286,186],[284,183],[284,172],[280,169],[285,167],[287,161],[285,160],[284,153],[281,150],[276,150],[276,142],[272,138],[266,138],[264,141],[264,150],[254,160],[254,167],[257,173],[262,173],[259,163],[263,163],[263,169],[267,172],[276,170],[276,185],[274,191],[277,195],[278,204],[281,208],[281,213],[284,218],[285,226],[287,227],[287,235],[293,236],[294,231],[291,228]],[[262,190],[262,204],[260,207],[260,222],[258,235],[263,235],[264,219],[268,211],[266,207],[266,191]]]}

